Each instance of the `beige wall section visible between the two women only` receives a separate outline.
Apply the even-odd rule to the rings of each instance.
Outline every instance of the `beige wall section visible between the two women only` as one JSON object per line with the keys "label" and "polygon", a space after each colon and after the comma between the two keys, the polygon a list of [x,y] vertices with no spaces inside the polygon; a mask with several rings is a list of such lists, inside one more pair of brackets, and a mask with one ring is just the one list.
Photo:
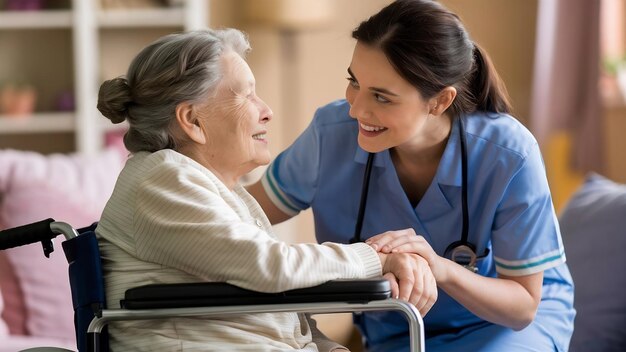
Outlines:
{"label": "beige wall section visible between the two women only", "polygon": [[[303,3],[308,1],[317,6],[313,0]],[[274,155],[306,128],[317,107],[344,96],[354,46],[350,31],[389,2],[330,0],[333,11],[323,23],[294,30],[255,22],[242,11],[248,5],[245,0],[213,0],[212,26],[238,27],[250,37],[248,62],[256,76],[257,93],[274,111],[269,128]],[[261,171],[253,173],[251,179],[258,178]],[[290,241],[314,241],[310,211],[277,226],[276,232]]]}

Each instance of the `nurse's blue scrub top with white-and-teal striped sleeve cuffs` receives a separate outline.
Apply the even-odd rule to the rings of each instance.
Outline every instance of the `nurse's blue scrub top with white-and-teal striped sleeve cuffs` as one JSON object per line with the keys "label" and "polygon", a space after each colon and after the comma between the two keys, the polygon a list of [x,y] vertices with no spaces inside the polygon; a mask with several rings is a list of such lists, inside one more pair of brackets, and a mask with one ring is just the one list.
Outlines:
{"label": "nurse's blue scrub top with white-and-teal striped sleeve cuffs", "polygon": [[[309,127],[262,178],[270,199],[285,213],[313,209],[319,242],[348,243],[354,233],[368,153],[358,146],[357,122],[348,111],[345,100],[318,109]],[[478,272],[495,277],[544,271],[535,322],[541,324],[542,333],[553,336],[557,350],[566,350],[574,318],[573,285],[537,142],[509,115],[474,113],[463,118],[469,241],[479,255],[489,250],[478,261]],[[389,151],[377,153],[362,239],[411,227],[443,255],[461,238],[461,179],[458,122],[433,182],[415,208],[400,185]],[[396,313],[366,313],[356,320],[371,346],[407,333],[406,322]],[[427,339],[485,323],[441,290],[424,322]]]}

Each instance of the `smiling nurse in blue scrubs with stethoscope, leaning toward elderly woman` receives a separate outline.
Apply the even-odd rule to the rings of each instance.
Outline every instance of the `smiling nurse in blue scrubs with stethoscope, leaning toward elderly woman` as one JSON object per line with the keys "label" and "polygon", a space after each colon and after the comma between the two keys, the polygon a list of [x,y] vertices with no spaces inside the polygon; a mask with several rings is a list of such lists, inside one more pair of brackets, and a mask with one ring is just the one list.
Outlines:
{"label": "smiling nurse in blue scrubs with stethoscope, leaning toward elderly woman", "polygon": [[[424,258],[429,352],[566,351],[573,284],[544,165],[487,54],[430,0],[393,2],[352,36],[346,99],[250,187],[271,222],[311,207],[319,242]],[[355,320],[368,351],[407,350],[400,316]]]}

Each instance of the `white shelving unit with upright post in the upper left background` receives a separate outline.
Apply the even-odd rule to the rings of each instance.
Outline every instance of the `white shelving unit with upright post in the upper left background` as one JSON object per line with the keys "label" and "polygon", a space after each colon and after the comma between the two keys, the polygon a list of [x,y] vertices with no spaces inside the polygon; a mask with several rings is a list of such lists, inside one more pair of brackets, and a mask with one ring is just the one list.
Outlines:
{"label": "white shelving unit with upright post in the upper left background", "polygon": [[[2,3],[3,0],[0,0]],[[137,28],[167,31],[172,28],[177,28],[175,31],[206,28],[210,0],[182,0],[180,6],[144,9],[102,9],[100,0],[70,0],[69,3],[69,9],[61,10],[0,10],[0,41],[4,38],[3,31],[43,29],[42,34],[46,33],[46,29],[62,28],[70,31],[71,49],[64,46],[63,50],[71,50],[72,53],[75,95],[75,111],[70,113],[35,113],[27,117],[0,114],[0,139],[20,134],[45,138],[48,133],[70,132],[74,134],[76,151],[94,154],[102,147],[103,136],[107,132],[128,128],[128,124],[111,124],[95,109],[100,82],[101,30],[119,28],[129,33]],[[10,45],[14,45],[13,42],[7,41]],[[55,67],[46,69],[54,70]],[[38,82],[33,84],[37,85]]]}

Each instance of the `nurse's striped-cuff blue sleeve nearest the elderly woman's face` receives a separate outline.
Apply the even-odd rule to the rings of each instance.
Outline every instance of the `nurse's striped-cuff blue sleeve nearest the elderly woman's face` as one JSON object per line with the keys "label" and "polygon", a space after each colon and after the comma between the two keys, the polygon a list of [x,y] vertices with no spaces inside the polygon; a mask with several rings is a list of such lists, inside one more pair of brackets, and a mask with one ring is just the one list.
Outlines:
{"label": "nurse's striped-cuff blue sleeve nearest the elderly woman's face", "polygon": [[261,178],[265,193],[285,214],[307,209],[315,196],[320,170],[320,136],[315,119],[280,153]]}

